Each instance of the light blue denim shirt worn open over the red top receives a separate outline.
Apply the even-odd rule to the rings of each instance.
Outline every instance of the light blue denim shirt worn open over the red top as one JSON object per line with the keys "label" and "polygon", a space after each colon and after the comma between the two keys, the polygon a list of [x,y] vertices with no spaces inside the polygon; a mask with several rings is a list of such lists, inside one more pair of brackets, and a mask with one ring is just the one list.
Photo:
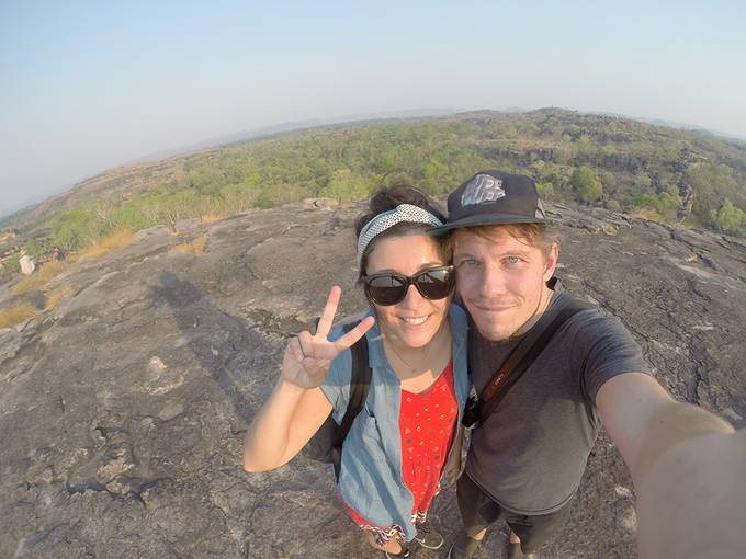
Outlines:
{"label": "light blue denim shirt worn open over the red top", "polygon": [[[374,316],[372,310],[369,315]],[[466,370],[466,315],[457,305],[451,305],[449,320],[453,338],[453,385],[459,403],[457,426],[472,386]],[[342,329],[337,329],[331,339],[341,334]],[[338,487],[344,502],[363,518],[382,527],[397,524],[410,541],[417,531],[411,518],[415,498],[404,483],[402,471],[402,383],[386,360],[377,323],[365,335],[371,386],[365,406],[352,422],[342,446]],[[334,407],[337,423],[341,423],[350,398],[351,360],[350,350],[339,354],[320,386]],[[461,453],[461,448],[452,446],[449,457],[454,452]]]}

